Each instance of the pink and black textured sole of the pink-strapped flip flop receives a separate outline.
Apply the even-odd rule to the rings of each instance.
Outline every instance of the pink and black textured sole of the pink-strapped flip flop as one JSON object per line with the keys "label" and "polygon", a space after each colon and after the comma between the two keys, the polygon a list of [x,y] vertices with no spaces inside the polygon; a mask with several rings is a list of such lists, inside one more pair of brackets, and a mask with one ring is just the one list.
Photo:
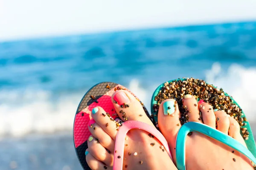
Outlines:
{"label": "pink and black textured sole of the pink-strapped flip flop", "polygon": [[[112,82],[103,82],[96,84],[88,92],[86,92],[78,106],[74,120],[73,137],[76,154],[84,170],[90,170],[90,167],[85,160],[85,150],[88,148],[87,139],[91,135],[87,126],[88,122],[92,119],[91,111],[94,107],[100,106],[106,112],[108,112],[112,118],[115,119],[117,116],[113,115],[116,114],[116,111],[111,101],[111,96],[116,90],[120,89],[130,92],[124,86]],[[134,95],[132,92],[130,93]],[[146,115],[148,115],[148,118],[150,118],[150,120],[152,121],[147,109],[142,102],[140,103],[142,104]]]}

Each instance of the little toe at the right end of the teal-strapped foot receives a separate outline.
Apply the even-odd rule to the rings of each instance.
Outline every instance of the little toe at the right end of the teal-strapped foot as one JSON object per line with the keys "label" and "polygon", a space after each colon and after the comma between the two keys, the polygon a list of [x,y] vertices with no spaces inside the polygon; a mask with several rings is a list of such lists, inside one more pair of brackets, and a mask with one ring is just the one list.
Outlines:
{"label": "little toe at the right end of the teal-strapped foot", "polygon": [[240,134],[240,126],[238,122],[232,117],[229,117],[229,121],[230,121],[230,129],[228,130],[229,135],[246,147],[244,139]]}

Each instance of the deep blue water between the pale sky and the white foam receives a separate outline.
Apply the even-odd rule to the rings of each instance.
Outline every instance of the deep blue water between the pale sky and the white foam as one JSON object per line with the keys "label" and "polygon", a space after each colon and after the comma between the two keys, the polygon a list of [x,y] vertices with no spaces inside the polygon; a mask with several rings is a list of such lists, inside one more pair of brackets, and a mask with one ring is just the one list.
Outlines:
{"label": "deep blue water between the pale sky and the white foam", "polygon": [[204,78],[202,69],[216,61],[255,66],[255,45],[254,22],[3,42],[0,87],[55,91],[131,78]]}

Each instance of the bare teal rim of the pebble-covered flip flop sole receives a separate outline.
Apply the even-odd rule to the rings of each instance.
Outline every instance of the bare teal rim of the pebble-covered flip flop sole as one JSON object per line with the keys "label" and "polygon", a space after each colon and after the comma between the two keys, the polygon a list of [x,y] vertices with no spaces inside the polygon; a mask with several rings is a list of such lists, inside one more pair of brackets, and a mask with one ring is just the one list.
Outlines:
{"label": "bare teal rim of the pebble-covered flip flop sole", "polygon": [[[172,84],[173,82],[175,81],[186,81],[186,78],[180,78],[180,79],[175,79],[175,80],[171,80],[171,81],[168,81],[169,84]],[[155,101],[155,96],[157,96],[157,94],[159,93],[159,91],[162,89],[162,87],[164,86],[164,83],[161,84],[160,86],[157,87],[157,89],[154,91],[153,95],[152,95],[152,98],[151,98],[151,114],[152,114],[152,117],[154,119],[153,123],[154,125],[156,126],[155,122],[157,122],[157,114],[158,114],[158,110],[155,110],[153,108],[154,104],[157,104],[157,101]],[[217,88],[216,86],[213,86],[214,88]],[[237,104],[237,102],[233,99],[232,96],[228,95],[226,92],[224,92],[224,95],[226,96],[229,96],[232,100],[233,100],[233,104],[236,104],[240,109],[241,107],[239,106],[239,104]],[[172,97],[168,97],[168,98],[172,98]],[[244,114],[244,111],[242,111],[242,113]],[[243,118],[245,119],[246,116],[244,114]],[[249,132],[249,138],[248,140],[244,140],[246,145],[247,145],[247,148],[248,150],[250,150],[250,152],[253,154],[254,157],[256,157],[256,146],[255,146],[255,141],[254,141],[254,138],[253,138],[253,133],[252,133],[252,130],[250,128],[250,124],[249,122],[247,121],[244,121],[246,123],[245,126],[243,127],[246,127],[248,132]]]}

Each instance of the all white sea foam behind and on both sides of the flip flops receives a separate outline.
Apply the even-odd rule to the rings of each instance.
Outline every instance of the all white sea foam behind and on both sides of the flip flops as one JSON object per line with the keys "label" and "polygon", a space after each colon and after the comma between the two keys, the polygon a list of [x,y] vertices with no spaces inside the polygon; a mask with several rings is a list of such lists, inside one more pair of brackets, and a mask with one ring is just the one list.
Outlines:
{"label": "all white sea foam behind and on both sides of the flip flops", "polygon": [[[206,71],[206,81],[233,96],[244,109],[250,122],[256,121],[256,68],[244,68],[231,65],[223,72],[219,63],[214,63]],[[151,95],[159,84],[142,86],[142,82],[131,80],[128,88],[134,92],[150,111]],[[84,90],[83,92],[85,92]],[[83,93],[82,92],[82,93]],[[15,137],[29,133],[55,133],[72,131],[76,108],[83,94],[80,92],[64,93],[53,100],[54,94],[47,91],[28,89],[26,91],[0,92],[0,136]]]}

